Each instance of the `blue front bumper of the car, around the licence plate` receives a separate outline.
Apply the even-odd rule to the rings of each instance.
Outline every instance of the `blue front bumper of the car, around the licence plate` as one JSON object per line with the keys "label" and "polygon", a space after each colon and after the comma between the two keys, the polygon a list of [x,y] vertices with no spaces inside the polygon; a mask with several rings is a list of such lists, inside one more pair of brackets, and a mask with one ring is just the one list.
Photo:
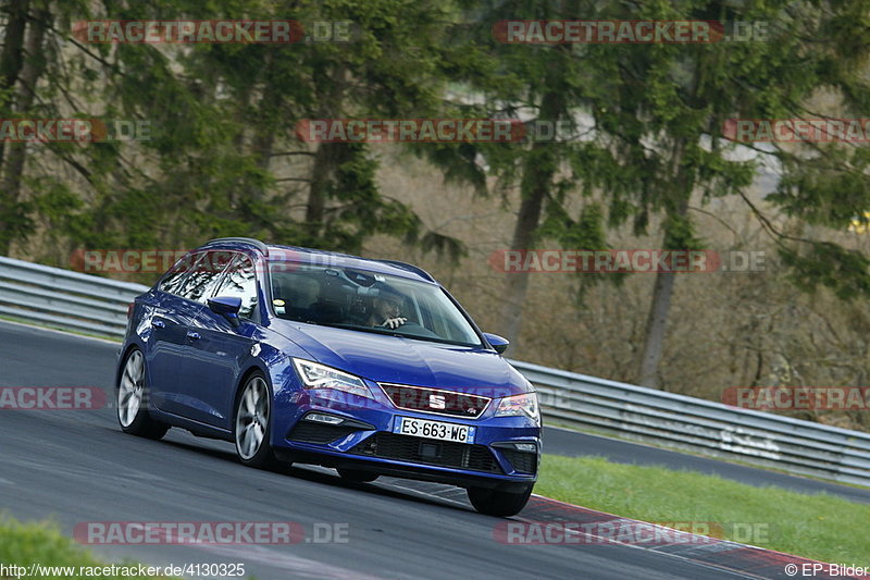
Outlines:
{"label": "blue front bumper of the car, around the licence plate", "polygon": [[[344,421],[315,423],[306,419],[312,412]],[[474,427],[474,441],[394,433],[397,417]],[[287,390],[276,394],[273,418],[272,446],[286,461],[506,491],[520,491],[537,479],[540,428],[524,417],[495,417],[494,405],[478,419],[465,419],[397,409],[388,399]],[[525,444],[523,449],[533,444],[535,451],[517,449],[515,443]]]}

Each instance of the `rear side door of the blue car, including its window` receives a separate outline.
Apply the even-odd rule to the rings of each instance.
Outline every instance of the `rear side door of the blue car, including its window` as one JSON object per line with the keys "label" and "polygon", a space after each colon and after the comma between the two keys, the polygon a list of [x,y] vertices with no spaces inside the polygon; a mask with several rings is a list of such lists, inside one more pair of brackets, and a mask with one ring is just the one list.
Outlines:
{"label": "rear side door of the blue car, including its window", "polygon": [[191,394],[196,385],[190,384],[189,372],[192,365],[190,358],[195,355],[191,344],[196,342],[191,324],[203,297],[211,296],[220,283],[228,263],[226,256],[226,251],[214,250],[196,254],[184,281],[165,299],[165,328],[160,332],[171,338],[172,353],[171,356],[161,357],[160,369],[166,385],[158,405],[161,410],[199,420],[200,405]]}

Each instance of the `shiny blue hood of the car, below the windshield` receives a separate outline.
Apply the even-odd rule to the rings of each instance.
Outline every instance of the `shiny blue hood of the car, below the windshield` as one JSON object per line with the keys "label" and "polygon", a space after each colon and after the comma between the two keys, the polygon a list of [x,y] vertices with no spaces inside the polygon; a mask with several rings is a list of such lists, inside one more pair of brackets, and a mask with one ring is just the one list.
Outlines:
{"label": "shiny blue hood of the car, below the windshield", "polygon": [[530,391],[492,350],[276,320],[274,330],[312,358],[380,383],[446,388],[490,397]]}

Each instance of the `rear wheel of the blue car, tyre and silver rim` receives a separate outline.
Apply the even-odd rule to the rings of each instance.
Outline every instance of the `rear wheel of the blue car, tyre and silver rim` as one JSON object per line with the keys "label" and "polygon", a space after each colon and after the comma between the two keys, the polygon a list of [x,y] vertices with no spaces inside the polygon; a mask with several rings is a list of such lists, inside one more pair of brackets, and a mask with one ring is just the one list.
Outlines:
{"label": "rear wheel of the blue car, tyre and silver rim", "polygon": [[138,348],[130,350],[124,359],[124,371],[116,394],[117,422],[124,433],[154,441],[166,434],[170,425],[154,421],[148,415],[145,357]]}

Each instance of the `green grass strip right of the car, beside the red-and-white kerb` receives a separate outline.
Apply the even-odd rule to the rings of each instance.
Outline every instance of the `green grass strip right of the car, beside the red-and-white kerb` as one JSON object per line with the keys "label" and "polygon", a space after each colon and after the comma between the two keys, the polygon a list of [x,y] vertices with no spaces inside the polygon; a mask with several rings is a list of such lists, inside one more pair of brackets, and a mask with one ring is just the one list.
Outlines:
{"label": "green grass strip right of the car, beside the red-and-white kerb", "polygon": [[721,528],[716,529],[729,540],[823,562],[870,566],[870,505],[829,494],[555,455],[544,456],[535,493],[644,521],[717,522]]}

